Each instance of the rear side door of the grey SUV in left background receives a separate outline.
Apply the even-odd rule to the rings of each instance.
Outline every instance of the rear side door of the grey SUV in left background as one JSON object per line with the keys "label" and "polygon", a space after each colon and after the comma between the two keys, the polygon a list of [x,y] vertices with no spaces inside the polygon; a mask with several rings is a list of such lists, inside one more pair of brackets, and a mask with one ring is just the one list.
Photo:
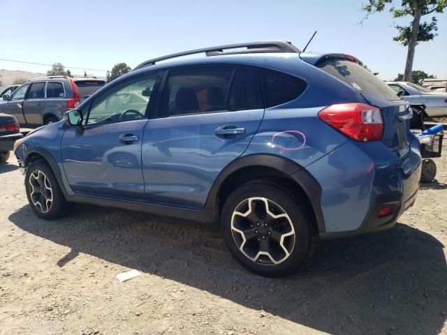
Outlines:
{"label": "rear side door of the grey SUV in left background", "polygon": [[46,82],[32,82],[23,101],[23,114],[29,126],[40,126],[45,106]]}

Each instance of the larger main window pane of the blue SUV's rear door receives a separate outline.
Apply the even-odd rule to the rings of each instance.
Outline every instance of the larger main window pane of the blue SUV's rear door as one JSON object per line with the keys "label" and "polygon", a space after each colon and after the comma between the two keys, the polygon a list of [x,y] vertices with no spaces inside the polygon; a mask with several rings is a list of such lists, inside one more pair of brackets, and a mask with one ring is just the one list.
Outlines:
{"label": "larger main window pane of the blue SUV's rear door", "polygon": [[204,67],[171,70],[161,114],[182,115],[226,110],[233,68]]}

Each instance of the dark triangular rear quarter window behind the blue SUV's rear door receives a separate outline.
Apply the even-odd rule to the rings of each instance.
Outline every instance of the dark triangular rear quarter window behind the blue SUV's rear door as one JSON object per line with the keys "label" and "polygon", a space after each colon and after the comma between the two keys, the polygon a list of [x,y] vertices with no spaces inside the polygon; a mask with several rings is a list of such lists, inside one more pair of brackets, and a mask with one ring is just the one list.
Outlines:
{"label": "dark triangular rear quarter window behind the blue SUV's rear door", "polygon": [[300,78],[274,70],[261,69],[265,107],[273,107],[293,101],[306,89]]}

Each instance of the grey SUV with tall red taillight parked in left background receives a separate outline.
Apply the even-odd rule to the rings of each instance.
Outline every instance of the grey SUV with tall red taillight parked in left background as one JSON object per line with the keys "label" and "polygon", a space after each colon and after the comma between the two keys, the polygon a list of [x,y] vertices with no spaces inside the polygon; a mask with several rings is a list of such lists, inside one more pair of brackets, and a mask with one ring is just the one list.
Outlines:
{"label": "grey SUV with tall red taillight parked in left background", "polygon": [[57,122],[67,110],[78,107],[105,85],[104,80],[71,78],[63,75],[38,77],[3,96],[0,112],[13,115],[22,127]]}

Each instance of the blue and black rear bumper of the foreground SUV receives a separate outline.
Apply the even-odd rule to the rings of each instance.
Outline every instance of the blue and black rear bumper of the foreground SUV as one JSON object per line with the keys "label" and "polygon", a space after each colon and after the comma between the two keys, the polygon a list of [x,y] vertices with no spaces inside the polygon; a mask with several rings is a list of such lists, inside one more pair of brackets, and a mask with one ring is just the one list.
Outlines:
{"label": "blue and black rear bumper of the foreground SUV", "polygon": [[[417,141],[415,139],[415,141]],[[352,237],[392,228],[411,207],[422,167],[418,143],[400,158],[381,142],[350,141],[307,170],[321,184],[321,239]],[[380,216],[385,207],[390,214]]]}

